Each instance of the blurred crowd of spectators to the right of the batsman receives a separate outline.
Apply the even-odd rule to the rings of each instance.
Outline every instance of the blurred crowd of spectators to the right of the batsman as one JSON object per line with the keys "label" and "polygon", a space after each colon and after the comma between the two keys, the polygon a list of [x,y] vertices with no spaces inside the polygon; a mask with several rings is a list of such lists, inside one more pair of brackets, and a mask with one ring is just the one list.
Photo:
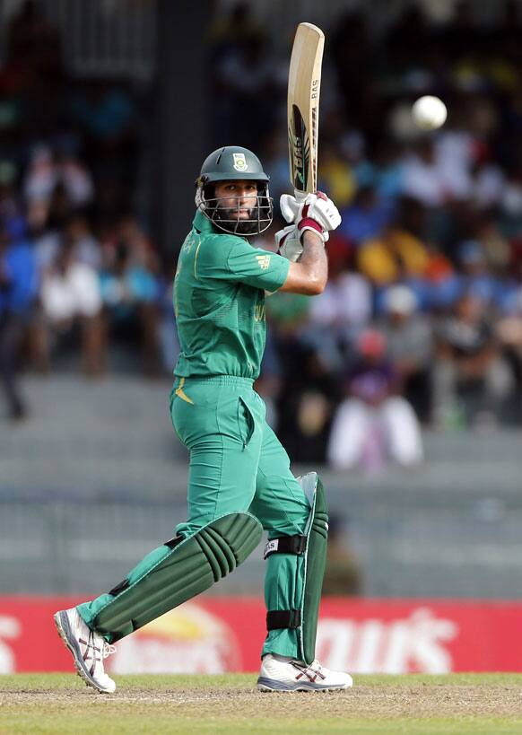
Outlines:
{"label": "blurred crowd of spectators to the right of the batsman", "polygon": [[[325,293],[268,300],[259,381],[294,459],[415,466],[422,426],[522,423],[522,18],[515,2],[487,22],[476,4],[447,8],[405,4],[376,28],[361,4],[320,23],[319,188],[343,223]],[[245,4],[211,40],[213,129],[264,155],[277,200],[288,190],[283,67]],[[448,106],[439,131],[413,123],[422,94]],[[281,109],[252,107],[267,95]],[[240,109],[254,110],[243,132]]]}

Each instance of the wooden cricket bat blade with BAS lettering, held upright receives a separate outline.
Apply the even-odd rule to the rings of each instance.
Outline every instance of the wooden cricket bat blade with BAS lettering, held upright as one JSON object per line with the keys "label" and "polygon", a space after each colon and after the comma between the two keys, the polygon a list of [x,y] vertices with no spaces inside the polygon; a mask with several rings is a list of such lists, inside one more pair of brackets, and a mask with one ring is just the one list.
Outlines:
{"label": "wooden cricket bat blade with BAS lettering, held upright", "polygon": [[318,122],[321,62],[325,34],[300,23],[288,74],[288,153],[290,180],[298,199],[318,188]]}

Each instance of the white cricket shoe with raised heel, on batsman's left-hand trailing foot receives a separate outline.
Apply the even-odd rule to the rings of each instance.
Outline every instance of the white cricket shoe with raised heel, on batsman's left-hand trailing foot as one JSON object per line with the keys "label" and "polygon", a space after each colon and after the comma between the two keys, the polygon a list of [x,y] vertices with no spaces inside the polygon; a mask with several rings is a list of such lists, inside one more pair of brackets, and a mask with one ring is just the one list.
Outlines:
{"label": "white cricket shoe with raised heel, on batsman's left-hand trailing foot", "polygon": [[74,666],[87,686],[104,693],[116,691],[116,684],[103,669],[103,660],[116,651],[115,646],[91,631],[76,608],[59,610],[54,618],[58,634],[73,654]]}

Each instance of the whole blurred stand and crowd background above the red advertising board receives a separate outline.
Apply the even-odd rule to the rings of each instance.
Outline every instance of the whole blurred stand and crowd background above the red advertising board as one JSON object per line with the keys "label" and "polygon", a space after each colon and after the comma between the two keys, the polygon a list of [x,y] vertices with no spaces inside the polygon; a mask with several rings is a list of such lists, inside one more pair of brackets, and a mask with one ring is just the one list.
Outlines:
{"label": "whole blurred stand and crowd background above the red advertising board", "polygon": [[[178,249],[214,148],[289,191],[301,21],[326,33],[318,179],[343,223],[325,293],[267,301],[257,389],[325,480],[325,591],[522,596],[515,0],[0,0],[3,594],[109,589],[184,519]],[[430,133],[423,94],[448,107]],[[258,549],[213,594],[263,573]]]}

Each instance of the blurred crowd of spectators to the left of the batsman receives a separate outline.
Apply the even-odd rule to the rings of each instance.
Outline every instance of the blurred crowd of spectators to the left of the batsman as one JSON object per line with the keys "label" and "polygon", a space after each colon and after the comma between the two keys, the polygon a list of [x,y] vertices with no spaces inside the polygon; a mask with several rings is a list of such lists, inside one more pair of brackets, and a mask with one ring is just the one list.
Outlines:
{"label": "blurred crowd of spectators to the left of the batsman", "polygon": [[135,216],[139,97],[121,79],[72,78],[33,0],[6,28],[0,69],[0,387],[28,416],[17,373],[102,375],[140,354],[161,372],[168,279]]}

